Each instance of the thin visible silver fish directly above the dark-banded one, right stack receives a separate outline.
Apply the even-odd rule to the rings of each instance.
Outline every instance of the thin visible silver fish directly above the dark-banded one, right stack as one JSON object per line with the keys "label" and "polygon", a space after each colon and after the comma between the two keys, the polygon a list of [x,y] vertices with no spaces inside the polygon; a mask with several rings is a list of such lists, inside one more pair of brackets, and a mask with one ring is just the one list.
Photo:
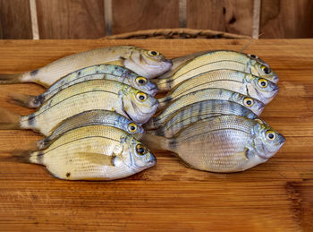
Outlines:
{"label": "thin visible silver fish directly above the dark-banded one, right stack", "polygon": [[148,123],[144,127],[146,129],[158,128],[159,126],[164,125],[165,121],[182,107],[190,106],[199,101],[208,99],[219,99],[236,102],[243,107],[249,108],[257,116],[262,113],[265,107],[265,105],[258,99],[252,99],[246,95],[242,95],[241,93],[233,92],[232,90],[213,88],[207,90],[197,90],[170,102],[170,104],[164,107],[163,110],[160,110],[156,116],[153,116],[151,119],[149,119]]}

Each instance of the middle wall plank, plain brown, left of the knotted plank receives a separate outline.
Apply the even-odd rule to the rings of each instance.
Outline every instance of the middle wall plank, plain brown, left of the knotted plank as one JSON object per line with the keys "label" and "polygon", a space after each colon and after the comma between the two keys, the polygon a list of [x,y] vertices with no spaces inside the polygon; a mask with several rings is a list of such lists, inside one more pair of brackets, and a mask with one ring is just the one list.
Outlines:
{"label": "middle wall plank, plain brown, left of the knotted plank", "polygon": [[178,0],[114,0],[113,34],[179,27]]}

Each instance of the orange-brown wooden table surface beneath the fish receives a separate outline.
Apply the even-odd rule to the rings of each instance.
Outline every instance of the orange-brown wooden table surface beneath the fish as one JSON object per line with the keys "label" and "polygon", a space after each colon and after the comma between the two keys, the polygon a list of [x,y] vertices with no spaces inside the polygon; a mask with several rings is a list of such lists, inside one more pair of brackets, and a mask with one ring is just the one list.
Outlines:
{"label": "orange-brown wooden table surface beneath the fish", "polygon": [[[36,69],[96,47],[135,45],[167,57],[200,50],[240,50],[249,40],[1,40],[0,73]],[[265,164],[235,174],[185,168],[170,153],[157,166],[112,182],[71,182],[38,165],[8,161],[8,150],[40,138],[31,131],[0,131],[0,230],[313,231],[313,39],[262,39],[245,52],[271,64],[280,92],[262,117],[287,142]],[[39,94],[35,84],[0,86]]]}

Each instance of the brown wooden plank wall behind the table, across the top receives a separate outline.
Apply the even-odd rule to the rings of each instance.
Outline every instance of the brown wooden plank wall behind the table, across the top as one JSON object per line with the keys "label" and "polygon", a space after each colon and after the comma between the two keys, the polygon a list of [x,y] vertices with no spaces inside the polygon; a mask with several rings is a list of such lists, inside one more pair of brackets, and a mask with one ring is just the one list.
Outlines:
{"label": "brown wooden plank wall behind the table, across the top", "polygon": [[0,0],[0,39],[97,39],[178,27],[313,38],[312,15],[312,0]]}

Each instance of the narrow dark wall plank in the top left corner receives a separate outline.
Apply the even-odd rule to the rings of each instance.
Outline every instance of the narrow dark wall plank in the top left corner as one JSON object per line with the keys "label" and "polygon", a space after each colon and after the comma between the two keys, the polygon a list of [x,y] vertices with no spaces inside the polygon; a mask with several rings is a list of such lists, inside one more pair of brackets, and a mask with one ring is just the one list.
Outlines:
{"label": "narrow dark wall plank in the top left corner", "polygon": [[0,0],[0,24],[1,39],[32,39],[29,1]]}

